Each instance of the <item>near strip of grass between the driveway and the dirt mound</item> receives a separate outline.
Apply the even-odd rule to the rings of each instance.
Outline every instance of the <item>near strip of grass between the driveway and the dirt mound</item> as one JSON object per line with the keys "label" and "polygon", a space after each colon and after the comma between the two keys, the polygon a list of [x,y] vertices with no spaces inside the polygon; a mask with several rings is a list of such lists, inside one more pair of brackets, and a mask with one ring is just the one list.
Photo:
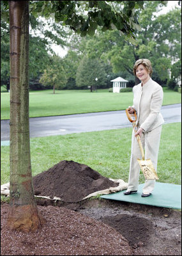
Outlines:
{"label": "near strip of grass between the driveway and the dirt mound", "polygon": [[[128,182],[131,136],[132,127],[31,138],[33,176],[48,170],[59,161],[72,160],[90,166],[105,177]],[[163,125],[158,156],[158,176],[160,182],[181,184],[181,123]],[[3,146],[1,147],[1,184],[9,180],[9,147]],[[144,182],[142,174],[139,182]]]}

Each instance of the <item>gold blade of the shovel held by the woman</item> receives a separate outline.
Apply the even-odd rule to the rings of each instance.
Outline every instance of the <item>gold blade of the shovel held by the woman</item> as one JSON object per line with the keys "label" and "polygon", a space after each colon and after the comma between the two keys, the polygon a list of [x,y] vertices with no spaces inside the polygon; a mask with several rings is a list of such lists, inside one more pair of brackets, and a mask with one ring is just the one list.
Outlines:
{"label": "gold blade of the shovel held by the woman", "polygon": [[146,180],[158,180],[158,175],[156,174],[156,170],[153,166],[151,159],[137,159],[137,161],[139,162],[140,169],[144,173],[144,177]]}

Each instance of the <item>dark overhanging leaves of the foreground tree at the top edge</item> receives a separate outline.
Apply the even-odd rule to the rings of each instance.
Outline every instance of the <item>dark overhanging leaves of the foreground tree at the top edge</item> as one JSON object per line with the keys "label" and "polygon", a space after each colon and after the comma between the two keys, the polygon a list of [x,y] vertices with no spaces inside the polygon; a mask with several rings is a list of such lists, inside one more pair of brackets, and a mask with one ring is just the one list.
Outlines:
{"label": "dark overhanging leaves of the foreground tree at the top edge", "polygon": [[[103,31],[119,29],[125,35],[135,36],[139,22],[135,10],[143,8],[144,1],[31,1],[33,15],[54,17],[56,22],[70,26],[80,36],[94,35],[98,26]],[[114,3],[121,8],[116,10]]]}

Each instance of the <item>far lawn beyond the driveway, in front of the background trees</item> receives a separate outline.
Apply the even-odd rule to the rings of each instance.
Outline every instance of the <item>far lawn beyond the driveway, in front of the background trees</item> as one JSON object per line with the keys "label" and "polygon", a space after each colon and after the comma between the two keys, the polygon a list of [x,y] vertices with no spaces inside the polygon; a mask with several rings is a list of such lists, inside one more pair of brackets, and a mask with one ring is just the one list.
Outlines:
{"label": "far lawn beyond the driveway, in front of the background trees", "polygon": [[[163,105],[181,102],[181,93],[163,88]],[[132,105],[133,93],[109,93],[107,89],[43,90],[29,93],[29,116],[56,116],[123,110]],[[1,93],[1,120],[10,119],[10,93]]]}

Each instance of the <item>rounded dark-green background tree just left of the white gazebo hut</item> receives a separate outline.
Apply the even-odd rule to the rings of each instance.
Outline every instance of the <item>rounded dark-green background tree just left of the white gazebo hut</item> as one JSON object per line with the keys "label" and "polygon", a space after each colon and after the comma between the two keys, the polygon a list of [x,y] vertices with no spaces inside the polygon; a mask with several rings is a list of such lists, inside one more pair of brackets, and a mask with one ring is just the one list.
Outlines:
{"label": "rounded dark-green background tree just left of the white gazebo hut", "polygon": [[76,84],[78,87],[91,88],[91,92],[97,86],[106,84],[107,74],[103,64],[98,59],[84,56],[77,69]]}

